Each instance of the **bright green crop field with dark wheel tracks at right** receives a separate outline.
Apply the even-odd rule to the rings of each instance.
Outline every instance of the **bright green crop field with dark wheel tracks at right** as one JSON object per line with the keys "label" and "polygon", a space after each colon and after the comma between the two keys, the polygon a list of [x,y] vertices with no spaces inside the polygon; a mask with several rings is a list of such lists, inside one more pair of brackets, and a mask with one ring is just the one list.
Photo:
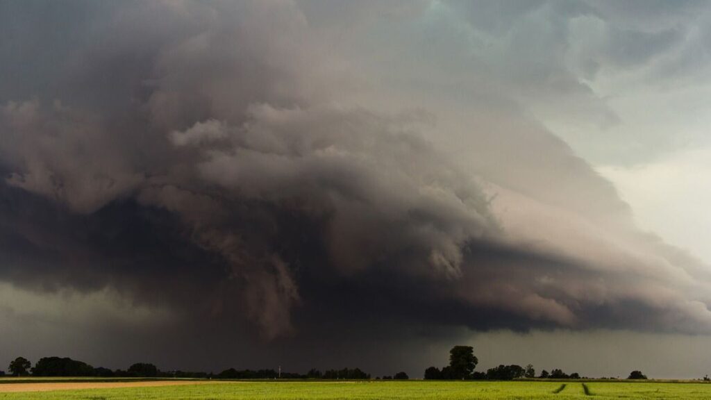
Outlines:
{"label": "bright green crop field with dark wheel tracks at right", "polygon": [[585,394],[579,381],[233,381],[195,386],[0,393],[0,399],[711,399],[711,384],[592,381],[585,385],[589,394]]}

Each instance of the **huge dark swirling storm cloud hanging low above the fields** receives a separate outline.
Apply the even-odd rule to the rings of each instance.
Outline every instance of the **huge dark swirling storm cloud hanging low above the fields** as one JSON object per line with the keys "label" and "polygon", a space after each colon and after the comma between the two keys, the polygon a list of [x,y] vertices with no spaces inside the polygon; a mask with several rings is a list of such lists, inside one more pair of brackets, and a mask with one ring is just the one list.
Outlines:
{"label": "huge dark swirling storm cloud hanging low above the fields", "polygon": [[358,321],[711,331],[707,265],[636,228],[614,186],[520,109],[537,78],[496,90],[479,65],[462,104],[451,77],[403,65],[437,88],[412,100],[338,46],[436,7],[364,6],[375,16],[337,40],[309,2],[77,5],[93,21],[77,46],[26,33],[37,62],[65,48],[21,76],[52,85],[2,83],[0,280],[110,289],[277,341]]}

